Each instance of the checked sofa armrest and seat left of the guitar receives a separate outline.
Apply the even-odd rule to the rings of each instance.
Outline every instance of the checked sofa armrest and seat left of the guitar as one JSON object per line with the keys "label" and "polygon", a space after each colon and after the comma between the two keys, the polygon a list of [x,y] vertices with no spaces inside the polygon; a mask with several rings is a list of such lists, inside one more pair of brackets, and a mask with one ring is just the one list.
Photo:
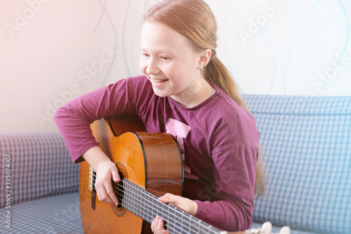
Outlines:
{"label": "checked sofa armrest and seat left of the guitar", "polygon": [[[6,177],[11,197],[1,190],[0,233],[84,233],[79,164],[72,162],[59,133],[0,133],[0,155],[1,165],[8,165],[6,176],[11,176]],[[0,178],[6,188],[5,173]],[[6,218],[8,212],[11,217]]]}

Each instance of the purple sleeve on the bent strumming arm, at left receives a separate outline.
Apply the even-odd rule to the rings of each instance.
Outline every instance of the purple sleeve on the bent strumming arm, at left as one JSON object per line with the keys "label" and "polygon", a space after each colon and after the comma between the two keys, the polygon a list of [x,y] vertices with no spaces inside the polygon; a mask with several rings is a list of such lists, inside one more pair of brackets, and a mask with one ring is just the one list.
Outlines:
{"label": "purple sleeve on the bent strumming arm, at left", "polygon": [[140,82],[135,81],[122,79],[76,98],[55,112],[55,124],[74,162],[83,161],[81,155],[98,145],[91,131],[92,122],[122,113],[135,114],[135,101],[139,96],[135,93],[143,89],[138,87]]}

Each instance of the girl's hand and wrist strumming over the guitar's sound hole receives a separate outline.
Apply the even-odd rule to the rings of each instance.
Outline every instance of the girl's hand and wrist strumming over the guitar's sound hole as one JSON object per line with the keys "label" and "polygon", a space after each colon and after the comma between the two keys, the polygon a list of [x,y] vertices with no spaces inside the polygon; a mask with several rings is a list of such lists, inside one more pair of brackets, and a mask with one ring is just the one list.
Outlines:
{"label": "girl's hand and wrist strumming over the guitar's sound hole", "polygon": [[118,183],[119,178],[116,164],[110,160],[107,155],[95,146],[84,152],[81,157],[93,167],[96,172],[95,190],[101,202],[118,205],[117,196],[114,194],[112,179]]}

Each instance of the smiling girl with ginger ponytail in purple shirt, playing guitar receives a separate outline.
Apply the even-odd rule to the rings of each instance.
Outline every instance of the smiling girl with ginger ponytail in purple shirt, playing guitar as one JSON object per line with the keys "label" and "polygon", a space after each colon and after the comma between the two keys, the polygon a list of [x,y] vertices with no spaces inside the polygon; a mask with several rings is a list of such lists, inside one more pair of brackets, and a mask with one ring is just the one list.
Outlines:
{"label": "smiling girl with ginger ponytail in purple shirt, playing guitar", "polygon": [[[259,133],[216,56],[216,31],[216,20],[204,1],[159,2],[143,18],[143,75],[81,96],[55,113],[72,160],[86,160],[95,169],[99,200],[118,204],[111,179],[120,178],[89,124],[130,113],[140,117],[147,131],[168,132],[180,145],[185,192],[183,197],[166,194],[161,202],[224,230],[251,226],[255,194],[264,188],[257,166]],[[159,217],[152,231],[168,233]]]}

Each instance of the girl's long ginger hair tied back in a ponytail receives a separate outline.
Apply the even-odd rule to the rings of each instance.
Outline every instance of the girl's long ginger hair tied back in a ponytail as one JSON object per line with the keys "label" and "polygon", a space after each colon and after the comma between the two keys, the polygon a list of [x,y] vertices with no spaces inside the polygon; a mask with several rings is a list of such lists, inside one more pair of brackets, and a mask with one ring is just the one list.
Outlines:
{"label": "girl's long ginger hair tied back in a ponytail", "polygon": [[[248,110],[232,75],[216,55],[217,22],[211,8],[202,0],[164,0],[152,6],[143,17],[143,22],[160,22],[189,39],[194,51],[211,49],[212,55],[203,68],[203,76],[225,91],[238,105]],[[261,197],[265,191],[263,160],[259,150],[255,195]]]}

